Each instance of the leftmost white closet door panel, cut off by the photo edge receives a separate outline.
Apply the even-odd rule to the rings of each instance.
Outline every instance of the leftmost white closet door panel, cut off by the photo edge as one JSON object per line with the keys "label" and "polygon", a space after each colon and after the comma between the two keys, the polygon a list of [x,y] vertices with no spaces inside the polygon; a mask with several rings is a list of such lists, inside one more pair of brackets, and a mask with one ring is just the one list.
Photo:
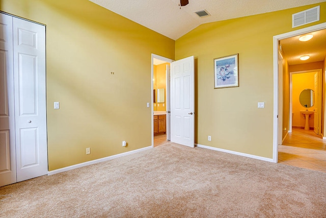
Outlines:
{"label": "leftmost white closet door panel, cut off by the photo edge", "polygon": [[16,182],[12,16],[0,13],[0,186]]}

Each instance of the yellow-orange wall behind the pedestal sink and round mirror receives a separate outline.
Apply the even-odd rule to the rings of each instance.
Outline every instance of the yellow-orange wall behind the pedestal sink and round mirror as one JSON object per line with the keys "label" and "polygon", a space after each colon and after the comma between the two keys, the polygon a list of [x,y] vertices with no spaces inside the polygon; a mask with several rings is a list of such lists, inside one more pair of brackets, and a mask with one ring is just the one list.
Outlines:
{"label": "yellow-orange wall behind the pedestal sink and round mirror", "polygon": [[[304,89],[314,90],[314,75],[316,72],[307,72],[303,74],[292,74],[292,127],[305,127],[304,115],[300,113],[302,110],[314,110],[314,106],[311,108],[305,108],[300,104],[299,96]],[[310,115],[309,126],[314,126],[314,115]]]}

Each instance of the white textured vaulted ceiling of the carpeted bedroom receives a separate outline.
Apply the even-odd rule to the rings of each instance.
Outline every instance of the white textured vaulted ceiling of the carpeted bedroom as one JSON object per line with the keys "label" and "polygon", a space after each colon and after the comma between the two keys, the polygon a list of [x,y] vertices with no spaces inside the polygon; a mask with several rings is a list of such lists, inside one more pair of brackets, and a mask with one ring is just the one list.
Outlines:
{"label": "white textured vaulted ceiling of the carpeted bedroom", "polygon": [[[178,39],[199,25],[324,2],[324,0],[90,0],[171,39]],[[195,12],[206,10],[210,16]]]}

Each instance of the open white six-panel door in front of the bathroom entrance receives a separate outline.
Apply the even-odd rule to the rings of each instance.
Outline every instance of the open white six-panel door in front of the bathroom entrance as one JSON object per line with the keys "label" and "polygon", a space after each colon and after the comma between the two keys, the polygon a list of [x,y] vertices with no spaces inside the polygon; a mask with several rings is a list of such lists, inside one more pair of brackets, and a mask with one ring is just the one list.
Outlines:
{"label": "open white six-panel door in front of the bathroom entrance", "polygon": [[172,62],[171,66],[171,141],[194,148],[194,56]]}

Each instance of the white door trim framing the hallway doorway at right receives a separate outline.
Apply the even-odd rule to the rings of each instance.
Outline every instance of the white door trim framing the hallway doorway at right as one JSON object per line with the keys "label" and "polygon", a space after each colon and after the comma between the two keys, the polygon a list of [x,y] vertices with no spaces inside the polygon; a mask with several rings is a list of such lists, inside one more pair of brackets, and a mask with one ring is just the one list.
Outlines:
{"label": "white door trim framing the hallway doorway at right", "polygon": [[[289,38],[292,36],[309,33],[312,31],[318,31],[326,28],[326,22],[320,23],[315,26],[303,28],[300,30],[291,31],[288,33],[283,33],[273,37],[273,60],[274,60],[274,113],[273,113],[273,162],[278,162],[278,138],[282,137],[278,135],[278,114],[279,114],[279,104],[280,107],[283,105],[279,102],[279,40]],[[282,104],[282,105],[281,105]],[[283,106],[282,106],[283,107]]]}

